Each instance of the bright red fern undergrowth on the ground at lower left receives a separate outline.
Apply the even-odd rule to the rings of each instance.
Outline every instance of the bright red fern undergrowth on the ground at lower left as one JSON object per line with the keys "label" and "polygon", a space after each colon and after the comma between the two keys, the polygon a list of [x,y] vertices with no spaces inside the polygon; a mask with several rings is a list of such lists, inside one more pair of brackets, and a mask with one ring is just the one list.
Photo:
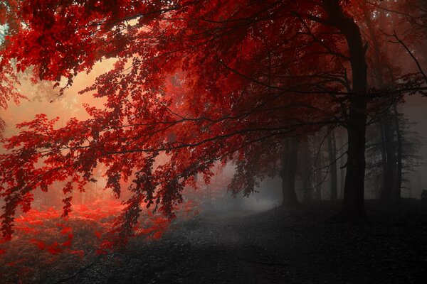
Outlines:
{"label": "bright red fern undergrowth on the ground at lower left", "polygon": [[[194,203],[177,208],[184,217],[193,214]],[[16,219],[15,234],[10,241],[0,239],[0,274],[11,280],[26,281],[36,274],[57,269],[75,270],[75,263],[117,249],[123,239],[111,231],[115,217],[122,212],[119,201],[97,200],[75,205],[67,219],[53,208],[31,210]],[[169,227],[169,219],[142,212],[132,236],[159,239]],[[13,282],[13,280],[11,280]]]}

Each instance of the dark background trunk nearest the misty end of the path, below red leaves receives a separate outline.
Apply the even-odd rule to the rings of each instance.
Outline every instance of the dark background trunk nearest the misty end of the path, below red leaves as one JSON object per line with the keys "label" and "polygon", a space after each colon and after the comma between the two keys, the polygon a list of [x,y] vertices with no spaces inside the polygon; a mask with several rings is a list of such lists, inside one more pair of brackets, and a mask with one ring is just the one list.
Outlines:
{"label": "dark background trunk nearest the misty end of the path, below red leaves", "polygon": [[283,202],[282,206],[298,204],[297,195],[295,193],[295,174],[297,173],[297,158],[298,158],[298,138],[288,138],[285,158],[282,162],[282,191]]}

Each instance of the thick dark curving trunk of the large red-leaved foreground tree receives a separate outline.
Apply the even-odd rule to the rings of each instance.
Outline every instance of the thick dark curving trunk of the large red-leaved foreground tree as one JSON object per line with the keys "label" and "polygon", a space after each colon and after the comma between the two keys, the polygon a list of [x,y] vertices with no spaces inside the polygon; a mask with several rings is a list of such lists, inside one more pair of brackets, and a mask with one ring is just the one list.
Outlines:
{"label": "thick dark curving trunk of the large red-leaved foreground tree", "polygon": [[365,131],[367,122],[367,63],[365,49],[359,26],[349,18],[340,1],[322,1],[328,13],[329,21],[341,31],[347,40],[350,63],[352,65],[352,92],[349,96],[349,115],[347,134],[349,148],[347,151],[347,175],[345,178],[344,201],[342,211],[337,214],[337,221],[363,219],[364,208],[364,175],[365,175]]}

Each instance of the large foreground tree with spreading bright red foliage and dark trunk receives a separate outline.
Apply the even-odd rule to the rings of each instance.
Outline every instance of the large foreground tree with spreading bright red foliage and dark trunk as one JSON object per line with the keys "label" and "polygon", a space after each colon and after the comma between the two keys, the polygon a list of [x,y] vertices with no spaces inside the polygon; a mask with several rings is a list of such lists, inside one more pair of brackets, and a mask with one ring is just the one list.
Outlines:
{"label": "large foreground tree with spreading bright red foliage and dark trunk", "polygon": [[73,188],[93,182],[98,163],[117,196],[120,180],[132,181],[117,222],[126,233],[142,206],[174,217],[183,188],[198,174],[209,182],[217,160],[244,164],[249,147],[265,146],[278,157],[285,138],[331,124],[348,133],[338,219],[363,218],[367,64],[352,9],[338,0],[21,1],[14,13],[23,24],[6,40],[1,66],[33,66],[63,90],[95,62],[116,63],[81,92],[106,101],[85,106],[91,119],[58,128],[40,114],[4,141],[5,236],[17,207],[28,211],[33,190],[55,180],[65,181],[68,214]]}

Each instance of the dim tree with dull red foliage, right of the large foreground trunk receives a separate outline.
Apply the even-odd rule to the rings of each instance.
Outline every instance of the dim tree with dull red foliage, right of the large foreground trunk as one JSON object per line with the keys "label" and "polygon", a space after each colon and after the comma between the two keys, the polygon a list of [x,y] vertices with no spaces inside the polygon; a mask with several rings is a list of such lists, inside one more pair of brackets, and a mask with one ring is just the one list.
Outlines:
{"label": "dim tree with dull red foliage, right of the large foreground trunk", "polygon": [[[394,204],[399,204],[401,197],[402,142],[404,140],[400,126],[400,114],[397,110],[398,104],[403,103],[403,94],[394,92],[394,89],[398,82],[396,78],[399,78],[402,72],[408,72],[408,67],[396,64],[394,58],[396,58],[396,53],[410,53],[406,44],[399,39],[397,34],[406,33],[405,39],[409,40],[412,46],[416,45],[417,38],[422,38],[420,36],[422,29],[418,24],[423,21],[425,14],[422,13],[422,5],[418,6],[415,2],[406,2],[405,6],[412,9],[411,12],[408,12],[406,11],[408,8],[404,8],[401,3],[398,4],[394,1],[383,1],[381,5],[369,1],[358,1],[364,23],[362,29],[367,34],[366,38],[371,47],[367,53],[370,86],[389,92],[381,100],[383,105],[373,121],[376,121],[379,133],[381,133],[381,143],[379,143],[382,166],[381,199]],[[412,29],[412,26],[408,28],[407,20],[413,22],[415,28]],[[390,38],[395,40],[390,40]],[[399,43],[402,46],[392,43]],[[394,58],[391,58],[391,54],[394,55]],[[416,63],[418,65],[418,62]],[[418,65],[418,67],[420,66]],[[423,74],[421,68],[418,71],[421,72],[421,75]],[[376,148],[374,147],[373,150]]]}

